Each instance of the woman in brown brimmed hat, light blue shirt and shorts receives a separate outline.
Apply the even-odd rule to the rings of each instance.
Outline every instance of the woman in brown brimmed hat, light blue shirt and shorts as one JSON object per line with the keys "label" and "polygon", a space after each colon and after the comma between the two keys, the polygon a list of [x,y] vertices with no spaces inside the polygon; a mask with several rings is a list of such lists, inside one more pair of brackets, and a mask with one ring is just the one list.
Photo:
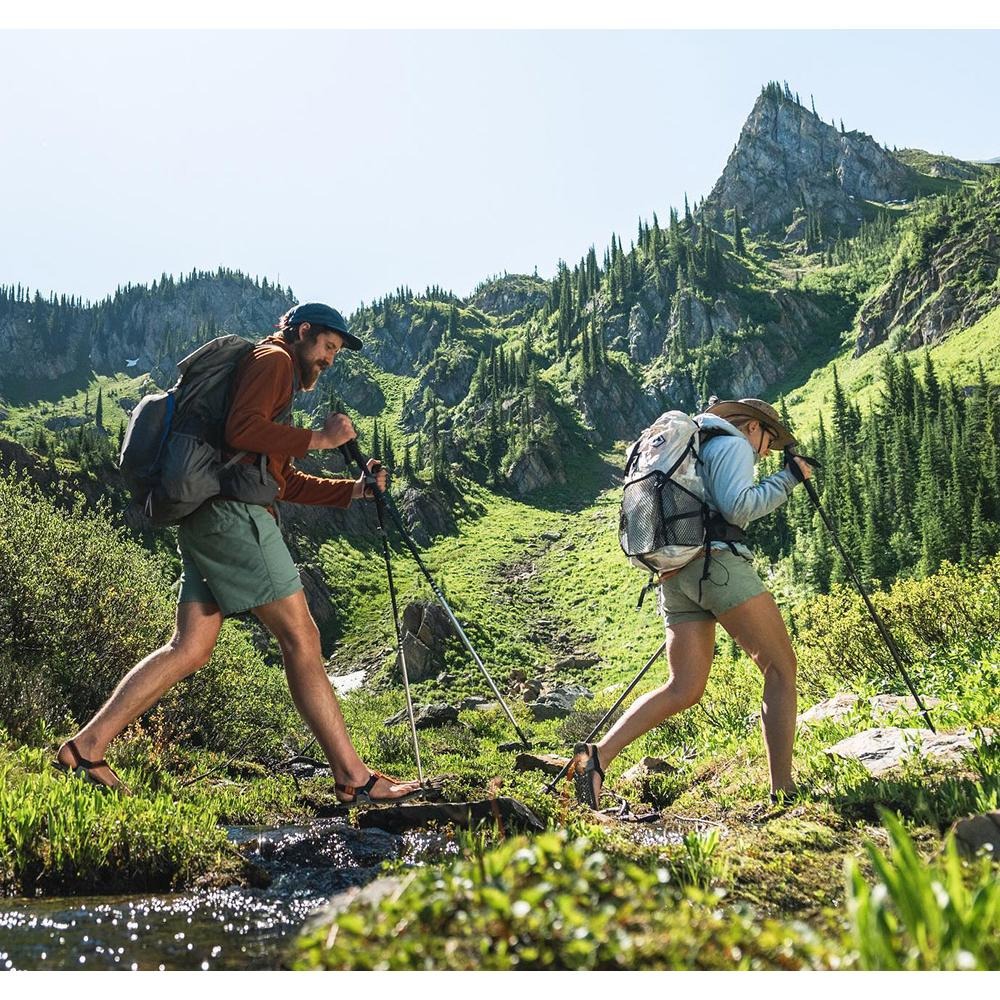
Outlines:
{"label": "woman in brown brimmed hat, light blue shirt and shorts", "polygon": [[[771,449],[794,444],[775,409],[760,399],[723,400],[710,406],[702,429],[713,432],[701,447],[699,473],[712,511],[732,525],[751,521],[781,506],[799,481],[784,468],[754,484],[754,465]],[[808,479],[809,465],[795,458]],[[718,622],[764,675],[761,726],[767,749],[771,799],[795,791],[795,653],[774,598],[767,591],[742,543],[713,542],[710,560],[699,556],[660,577],[659,607],[667,630],[670,680],[643,695],[599,743],[578,743],[570,773],[577,797],[596,809],[604,768],[621,751],[664,720],[690,708],[705,692],[715,653]],[[708,577],[702,581],[702,574]]]}

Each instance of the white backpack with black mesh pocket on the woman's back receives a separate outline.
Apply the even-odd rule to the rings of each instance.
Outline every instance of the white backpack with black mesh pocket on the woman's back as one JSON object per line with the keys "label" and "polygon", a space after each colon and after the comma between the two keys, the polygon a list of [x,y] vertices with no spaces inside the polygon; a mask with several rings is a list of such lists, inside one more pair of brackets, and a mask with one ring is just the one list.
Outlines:
{"label": "white backpack with black mesh pocket on the woman's back", "polygon": [[619,540],[633,566],[664,573],[705,552],[710,510],[697,469],[700,439],[697,418],[670,410],[629,446]]}

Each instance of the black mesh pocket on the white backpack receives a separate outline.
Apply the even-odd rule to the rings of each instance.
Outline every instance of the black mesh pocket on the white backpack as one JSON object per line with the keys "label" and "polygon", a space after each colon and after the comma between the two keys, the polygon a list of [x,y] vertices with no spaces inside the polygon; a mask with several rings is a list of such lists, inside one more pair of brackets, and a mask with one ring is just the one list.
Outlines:
{"label": "black mesh pocket on the white backpack", "polygon": [[704,504],[662,472],[625,486],[618,533],[628,556],[645,556],[668,545],[705,544]]}

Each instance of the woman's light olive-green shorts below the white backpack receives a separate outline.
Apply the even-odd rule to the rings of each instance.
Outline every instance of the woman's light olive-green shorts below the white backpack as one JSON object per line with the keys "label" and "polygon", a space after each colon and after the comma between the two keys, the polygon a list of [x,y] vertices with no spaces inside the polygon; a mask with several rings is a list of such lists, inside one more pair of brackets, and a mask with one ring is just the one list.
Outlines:
{"label": "woman's light olive-green shorts below the white backpack", "polygon": [[660,584],[658,603],[668,628],[683,622],[712,621],[767,590],[753,563],[729,549],[713,548],[709,576],[702,581],[704,572],[705,557],[700,555]]}

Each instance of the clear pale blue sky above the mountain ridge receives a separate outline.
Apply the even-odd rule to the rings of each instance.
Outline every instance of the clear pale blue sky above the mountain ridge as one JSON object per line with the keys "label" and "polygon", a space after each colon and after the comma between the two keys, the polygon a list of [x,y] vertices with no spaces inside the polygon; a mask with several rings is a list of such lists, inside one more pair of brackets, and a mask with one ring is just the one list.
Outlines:
{"label": "clear pale blue sky above the mountain ridge", "polygon": [[0,283],[466,295],[707,194],[770,79],[1000,156],[998,64],[998,31],[0,31]]}

